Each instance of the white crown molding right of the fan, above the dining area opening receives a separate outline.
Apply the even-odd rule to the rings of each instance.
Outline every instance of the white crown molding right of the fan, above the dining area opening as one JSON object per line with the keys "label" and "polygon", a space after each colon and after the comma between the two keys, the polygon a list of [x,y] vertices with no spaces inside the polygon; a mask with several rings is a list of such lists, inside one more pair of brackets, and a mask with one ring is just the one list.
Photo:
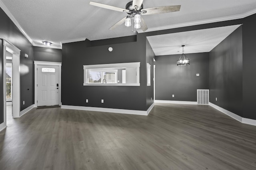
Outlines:
{"label": "white crown molding right of the fan, above the dining area opening", "polygon": [[[251,10],[249,12],[246,12],[244,14],[239,14],[239,15],[226,16],[226,17],[220,17],[220,18],[213,18],[213,19],[209,19],[209,20],[200,20],[200,21],[195,21],[195,22],[186,22],[186,23],[181,23],[181,24],[173,24],[173,25],[169,25],[169,26],[161,26],[161,27],[149,28],[145,32],[152,32],[152,31],[159,31],[159,30],[168,30],[168,29],[172,29],[172,28],[195,26],[195,25],[209,24],[209,23],[222,22],[222,21],[228,21],[228,20],[237,20],[237,19],[242,19],[242,18],[248,17],[248,16],[253,15],[253,14],[256,14],[256,9]],[[137,32],[138,33],[143,33],[142,30],[137,30]]]}

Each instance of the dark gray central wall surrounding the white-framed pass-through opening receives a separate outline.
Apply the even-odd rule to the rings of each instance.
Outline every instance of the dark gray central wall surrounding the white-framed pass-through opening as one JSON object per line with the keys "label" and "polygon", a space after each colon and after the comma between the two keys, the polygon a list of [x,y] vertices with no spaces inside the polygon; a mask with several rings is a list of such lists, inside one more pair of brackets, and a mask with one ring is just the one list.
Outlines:
{"label": "dark gray central wall surrounding the white-framed pass-through opening", "polygon": [[[132,37],[134,38],[134,36]],[[128,37],[128,39],[130,39]],[[146,106],[146,38],[89,40],[62,45],[62,104],[114,109],[147,110]],[[115,42],[113,44],[113,42]],[[92,45],[93,44],[93,45]],[[109,52],[108,47],[113,47]],[[136,51],[136,53],[134,53]],[[84,86],[83,65],[140,62],[140,86]],[[89,99],[89,103],[85,103]],[[104,99],[104,103],[101,103]]]}

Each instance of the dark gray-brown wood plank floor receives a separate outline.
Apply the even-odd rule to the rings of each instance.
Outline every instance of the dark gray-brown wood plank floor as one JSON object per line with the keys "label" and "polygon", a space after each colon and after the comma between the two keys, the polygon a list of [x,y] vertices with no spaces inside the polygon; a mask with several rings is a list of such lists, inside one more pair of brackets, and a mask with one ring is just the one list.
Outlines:
{"label": "dark gray-brown wood plank floor", "polygon": [[1,170],[255,170],[256,127],[204,105],[156,104],[150,115],[60,108],[8,118]]}

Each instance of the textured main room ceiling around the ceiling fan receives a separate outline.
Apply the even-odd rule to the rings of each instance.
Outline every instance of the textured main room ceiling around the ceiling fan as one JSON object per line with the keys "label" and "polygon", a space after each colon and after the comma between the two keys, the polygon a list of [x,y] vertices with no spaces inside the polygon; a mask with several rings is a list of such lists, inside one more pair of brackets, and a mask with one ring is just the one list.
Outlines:
{"label": "textured main room ceiling around the ceiling fan", "polygon": [[[94,0],[120,8],[130,0]],[[108,30],[126,16],[125,13],[89,5],[90,0],[0,0],[1,8],[10,14],[32,39],[34,45],[42,41],[61,46],[61,42],[79,38],[100,40],[133,35],[131,28],[121,25]],[[181,5],[179,12],[143,16],[148,31],[169,26],[207,22],[237,16],[256,9],[256,0],[144,0],[144,8]],[[239,16],[238,16],[239,18]],[[138,30],[138,32],[140,32]]]}

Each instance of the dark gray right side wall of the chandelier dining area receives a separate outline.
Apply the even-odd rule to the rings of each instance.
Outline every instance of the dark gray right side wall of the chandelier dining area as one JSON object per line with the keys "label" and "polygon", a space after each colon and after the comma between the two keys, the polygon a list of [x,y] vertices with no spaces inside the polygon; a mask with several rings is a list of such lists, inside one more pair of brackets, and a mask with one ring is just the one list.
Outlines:
{"label": "dark gray right side wall of the chandelier dining area", "polygon": [[[210,102],[242,116],[242,26],[210,51]],[[217,101],[216,101],[217,97]]]}

